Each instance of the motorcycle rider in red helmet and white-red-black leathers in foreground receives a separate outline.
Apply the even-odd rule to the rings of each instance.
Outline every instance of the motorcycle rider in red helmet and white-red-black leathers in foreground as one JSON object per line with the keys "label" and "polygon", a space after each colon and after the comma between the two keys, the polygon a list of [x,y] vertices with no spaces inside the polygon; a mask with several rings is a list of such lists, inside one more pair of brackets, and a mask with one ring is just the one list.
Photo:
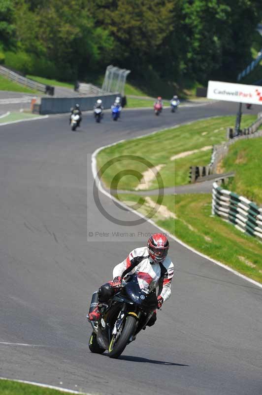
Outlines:
{"label": "motorcycle rider in red helmet and white-red-black leathers in foreground", "polygon": [[[98,289],[98,304],[87,315],[90,321],[98,321],[100,317],[99,303],[107,302],[122,286],[122,279],[129,274],[136,274],[143,287],[151,292],[158,287],[158,309],[171,295],[171,280],[174,275],[174,265],[167,257],[169,242],[167,238],[156,233],[152,235],[145,247],[135,248],[128,257],[113,269],[113,280]],[[156,322],[157,314],[148,321],[152,326]]]}

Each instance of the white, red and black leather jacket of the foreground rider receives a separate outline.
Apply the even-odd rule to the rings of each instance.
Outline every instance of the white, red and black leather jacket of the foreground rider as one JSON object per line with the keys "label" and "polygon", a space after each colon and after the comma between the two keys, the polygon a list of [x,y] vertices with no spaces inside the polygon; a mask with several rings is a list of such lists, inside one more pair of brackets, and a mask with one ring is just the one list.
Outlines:
{"label": "white, red and black leather jacket of the foreground rider", "polygon": [[158,289],[158,296],[165,302],[171,295],[171,280],[174,275],[174,265],[166,257],[162,263],[154,263],[147,247],[135,248],[128,257],[113,269],[113,278],[136,274],[141,288],[151,292]]}

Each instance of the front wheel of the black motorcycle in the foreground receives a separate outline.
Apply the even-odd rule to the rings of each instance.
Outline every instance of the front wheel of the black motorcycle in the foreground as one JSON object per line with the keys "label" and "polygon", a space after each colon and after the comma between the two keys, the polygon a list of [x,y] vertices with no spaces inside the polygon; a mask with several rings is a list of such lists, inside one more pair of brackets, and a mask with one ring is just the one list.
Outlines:
{"label": "front wheel of the black motorcycle in the foreground", "polygon": [[116,337],[113,335],[111,339],[108,349],[108,356],[110,356],[110,358],[118,358],[123,353],[129,343],[129,339],[134,334],[135,329],[136,318],[133,316],[127,316],[120,336]]}

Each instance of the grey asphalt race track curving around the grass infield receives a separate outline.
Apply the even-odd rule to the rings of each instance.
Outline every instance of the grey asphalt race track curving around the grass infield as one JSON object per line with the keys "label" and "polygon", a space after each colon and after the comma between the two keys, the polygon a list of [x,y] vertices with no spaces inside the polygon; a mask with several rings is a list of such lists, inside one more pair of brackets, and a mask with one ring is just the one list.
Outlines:
{"label": "grey asphalt race track curving around the grass infield", "polygon": [[[106,114],[101,124],[86,114],[77,132],[67,115],[0,126],[0,376],[62,382],[91,394],[262,394],[262,289],[173,240],[176,276],[156,325],[118,360],[87,346],[91,294],[147,240],[87,241],[87,227],[120,228],[92,200],[91,154],[175,123],[234,114],[236,107],[213,103],[164,110],[158,118],[123,111],[118,122]],[[101,203],[117,218],[138,218],[106,196]],[[157,230],[149,223],[129,228]]]}

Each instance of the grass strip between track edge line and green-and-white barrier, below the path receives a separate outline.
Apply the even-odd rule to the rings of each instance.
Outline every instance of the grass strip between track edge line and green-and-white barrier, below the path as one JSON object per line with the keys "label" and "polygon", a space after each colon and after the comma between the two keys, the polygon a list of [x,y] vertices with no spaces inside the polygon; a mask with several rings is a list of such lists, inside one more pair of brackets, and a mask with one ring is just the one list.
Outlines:
{"label": "grass strip between track edge line and green-and-white barrier, below the path", "polygon": [[[148,197],[122,194],[119,198],[145,215],[151,210]],[[135,204],[138,199],[141,207]],[[150,200],[155,202],[157,197],[151,196]],[[262,282],[261,241],[243,235],[233,225],[211,216],[211,194],[164,196],[163,206],[176,218],[164,218],[158,211],[152,219],[160,227],[203,254]]]}

